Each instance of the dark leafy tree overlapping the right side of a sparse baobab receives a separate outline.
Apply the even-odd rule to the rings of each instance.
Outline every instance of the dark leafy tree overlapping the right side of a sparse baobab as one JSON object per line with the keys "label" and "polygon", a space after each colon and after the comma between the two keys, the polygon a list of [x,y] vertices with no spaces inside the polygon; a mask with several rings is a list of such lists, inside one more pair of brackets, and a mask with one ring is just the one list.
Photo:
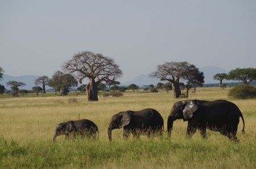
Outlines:
{"label": "dark leafy tree overlapping the right side of a sparse baobab", "polygon": [[187,98],[189,88],[203,86],[204,84],[204,73],[199,71],[193,64],[188,64],[185,67],[185,71],[181,74],[181,78],[187,82],[187,84],[185,84],[185,87],[187,88]]}

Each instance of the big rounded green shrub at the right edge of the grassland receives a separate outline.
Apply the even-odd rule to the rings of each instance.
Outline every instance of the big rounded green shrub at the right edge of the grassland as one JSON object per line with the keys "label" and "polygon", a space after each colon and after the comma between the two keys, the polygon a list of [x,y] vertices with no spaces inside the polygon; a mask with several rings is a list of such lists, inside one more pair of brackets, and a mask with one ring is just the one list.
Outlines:
{"label": "big rounded green shrub at the right edge of the grassland", "polygon": [[242,84],[230,89],[228,95],[236,99],[256,98],[256,88],[248,84]]}

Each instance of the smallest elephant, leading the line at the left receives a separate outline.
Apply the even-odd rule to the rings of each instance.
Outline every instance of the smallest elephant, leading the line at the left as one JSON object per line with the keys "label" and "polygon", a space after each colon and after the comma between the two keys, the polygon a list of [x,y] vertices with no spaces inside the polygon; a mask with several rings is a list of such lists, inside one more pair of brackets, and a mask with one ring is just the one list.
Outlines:
{"label": "smallest elephant, leading the line at the left", "polygon": [[80,134],[81,136],[86,136],[88,138],[96,138],[98,134],[98,127],[94,122],[87,119],[62,122],[56,126],[53,134],[53,141],[55,141],[56,137],[60,135],[65,135],[65,138],[67,138],[71,135],[75,137],[76,134]]}

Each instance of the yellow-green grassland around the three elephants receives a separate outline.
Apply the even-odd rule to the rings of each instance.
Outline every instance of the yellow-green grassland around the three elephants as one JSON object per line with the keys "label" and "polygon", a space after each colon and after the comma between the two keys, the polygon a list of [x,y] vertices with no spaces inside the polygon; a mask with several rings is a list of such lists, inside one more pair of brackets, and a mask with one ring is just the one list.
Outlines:
{"label": "yellow-green grassland around the three elephants", "polygon": [[[172,93],[125,92],[120,98],[99,98],[87,102],[84,95],[44,97],[35,95],[0,98],[0,168],[256,168],[256,99],[233,100],[228,88],[198,88],[189,99],[226,99],[238,105],[245,118],[238,125],[234,143],[217,132],[207,130],[203,140],[197,132],[185,137],[187,122],[175,121],[171,139],[131,137],[124,141],[122,130],[113,130],[108,141],[107,126],[114,113],[154,108],[164,119],[164,128],[174,102]],[[76,98],[77,102],[69,102]],[[56,124],[66,120],[90,119],[100,130],[98,141],[57,137],[52,142]]]}

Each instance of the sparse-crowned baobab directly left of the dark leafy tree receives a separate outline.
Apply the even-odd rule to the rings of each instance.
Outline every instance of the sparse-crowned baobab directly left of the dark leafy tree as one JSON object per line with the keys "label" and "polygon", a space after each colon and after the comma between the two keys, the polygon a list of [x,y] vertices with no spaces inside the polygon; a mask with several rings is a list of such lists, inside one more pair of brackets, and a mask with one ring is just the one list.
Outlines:
{"label": "sparse-crowned baobab directly left of the dark leafy tree", "polygon": [[179,98],[180,91],[180,75],[185,71],[188,62],[165,62],[158,65],[157,70],[150,74],[151,77],[157,77],[160,81],[168,81],[172,83],[174,90],[174,98]]}

